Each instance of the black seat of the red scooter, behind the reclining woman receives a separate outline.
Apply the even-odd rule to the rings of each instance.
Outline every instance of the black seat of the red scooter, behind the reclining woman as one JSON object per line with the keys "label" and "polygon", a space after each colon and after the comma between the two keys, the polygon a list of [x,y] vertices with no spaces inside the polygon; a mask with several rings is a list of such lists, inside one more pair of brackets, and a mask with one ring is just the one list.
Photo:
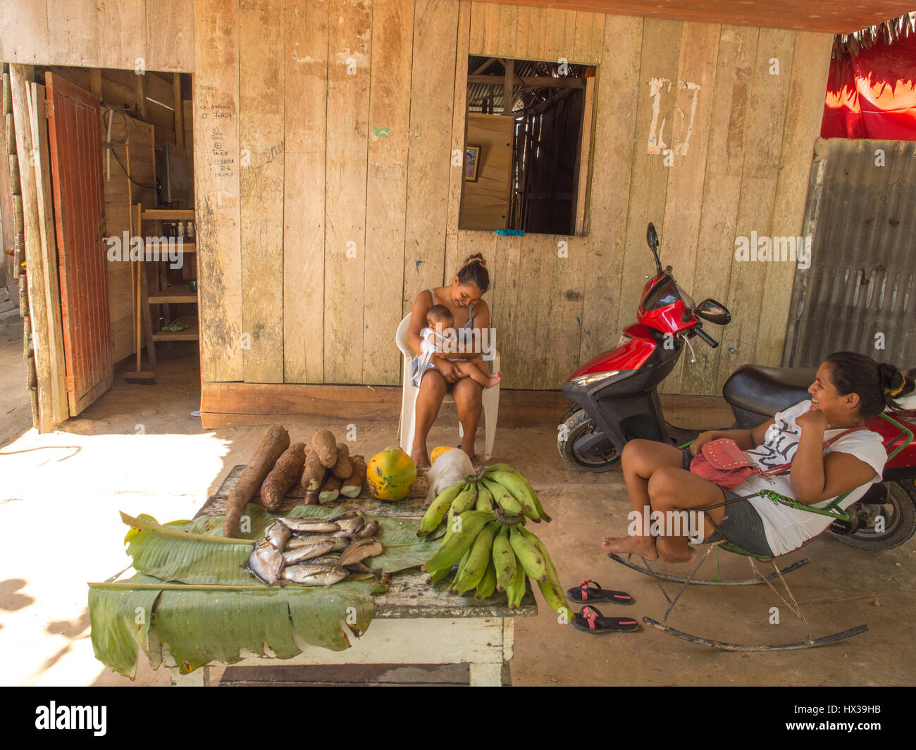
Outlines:
{"label": "black seat of the red scooter, behind the reclining woman", "polygon": [[722,395],[734,407],[766,417],[810,398],[808,387],[814,382],[813,367],[761,367],[745,364],[725,381]]}

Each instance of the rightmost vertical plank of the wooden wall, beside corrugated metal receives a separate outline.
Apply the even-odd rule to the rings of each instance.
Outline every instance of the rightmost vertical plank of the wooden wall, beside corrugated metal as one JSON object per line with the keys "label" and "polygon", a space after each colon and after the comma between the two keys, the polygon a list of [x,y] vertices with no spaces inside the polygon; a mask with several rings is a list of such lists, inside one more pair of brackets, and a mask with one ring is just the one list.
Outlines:
{"label": "rightmost vertical plank of the wooden wall, beside corrugated metal", "polygon": [[[769,232],[775,237],[802,235],[809,179],[808,170],[802,165],[812,161],[814,142],[820,135],[821,92],[826,89],[832,45],[833,37],[829,34],[799,31],[795,35],[786,125]],[[754,353],[754,362],[758,364],[780,364],[797,267],[797,263],[781,261],[766,264],[763,288],[766,314],[760,315]]]}

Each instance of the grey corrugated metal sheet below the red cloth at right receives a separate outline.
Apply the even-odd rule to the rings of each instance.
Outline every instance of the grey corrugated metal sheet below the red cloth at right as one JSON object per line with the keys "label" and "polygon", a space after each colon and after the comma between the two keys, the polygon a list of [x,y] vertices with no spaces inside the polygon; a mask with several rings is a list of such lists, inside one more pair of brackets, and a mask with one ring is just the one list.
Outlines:
{"label": "grey corrugated metal sheet below the red cloth at right", "polygon": [[819,139],[803,234],[783,364],[840,350],[916,364],[916,143]]}

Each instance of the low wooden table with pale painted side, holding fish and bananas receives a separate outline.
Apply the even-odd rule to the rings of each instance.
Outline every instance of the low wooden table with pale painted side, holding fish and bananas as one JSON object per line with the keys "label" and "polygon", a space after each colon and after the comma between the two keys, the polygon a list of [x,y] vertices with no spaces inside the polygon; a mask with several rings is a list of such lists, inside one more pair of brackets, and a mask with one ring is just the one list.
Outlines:
{"label": "low wooden table with pale painted side, holding fish and bananas", "polygon": [[[224,514],[225,498],[244,468],[234,467],[197,516]],[[409,496],[398,503],[361,495],[356,499],[341,498],[341,502],[333,505],[359,508],[370,516],[419,518],[425,505],[426,488],[426,478],[420,476]],[[301,490],[290,491],[279,512],[285,513],[301,505],[303,496]],[[505,594],[495,593],[485,602],[476,602],[473,596],[446,593],[445,582],[430,586],[426,578],[427,574],[419,569],[395,574],[387,592],[374,598],[376,614],[371,625],[363,636],[351,636],[353,645],[344,651],[299,643],[302,651],[294,658],[278,662],[276,658],[251,655],[234,666],[466,663],[470,666],[471,685],[502,685],[503,665],[512,658],[515,618],[538,614],[533,594],[529,591],[518,609],[509,610]],[[155,630],[155,622],[151,628]],[[149,644],[151,648],[158,645],[154,632],[150,633]],[[169,655],[168,645],[161,647],[161,654],[157,656],[161,656],[162,663],[171,670],[173,685],[209,685],[210,667],[221,666],[211,662],[191,674],[182,675]]]}

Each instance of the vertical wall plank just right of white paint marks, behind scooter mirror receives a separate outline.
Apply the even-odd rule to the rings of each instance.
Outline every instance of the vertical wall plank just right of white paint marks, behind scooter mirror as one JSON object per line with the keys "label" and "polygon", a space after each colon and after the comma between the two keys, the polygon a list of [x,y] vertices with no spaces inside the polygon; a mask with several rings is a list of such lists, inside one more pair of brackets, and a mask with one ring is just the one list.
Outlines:
{"label": "vertical wall plank just right of white paint marks, behind scooter mirror", "polygon": [[[711,297],[725,304],[728,297],[757,41],[758,29],[753,27],[723,26],[719,35],[703,208],[693,261],[691,291],[697,301]],[[722,338],[718,326],[711,326],[709,333],[716,340]],[[697,361],[683,365],[681,392],[713,396],[722,347],[711,349],[698,342],[694,348]]]}

